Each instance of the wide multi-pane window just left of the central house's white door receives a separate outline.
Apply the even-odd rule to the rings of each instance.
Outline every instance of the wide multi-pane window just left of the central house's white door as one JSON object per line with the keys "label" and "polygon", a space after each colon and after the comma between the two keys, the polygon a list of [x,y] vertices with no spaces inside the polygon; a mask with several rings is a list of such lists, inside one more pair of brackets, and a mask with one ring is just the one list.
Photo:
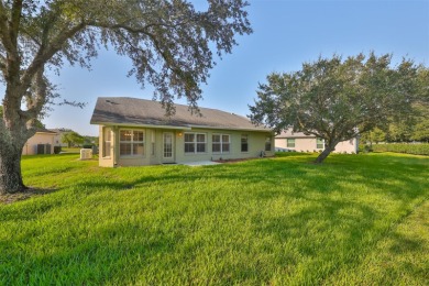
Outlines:
{"label": "wide multi-pane window just left of the central house's white door", "polygon": [[121,156],[144,155],[143,130],[121,130],[119,136],[119,154]]}

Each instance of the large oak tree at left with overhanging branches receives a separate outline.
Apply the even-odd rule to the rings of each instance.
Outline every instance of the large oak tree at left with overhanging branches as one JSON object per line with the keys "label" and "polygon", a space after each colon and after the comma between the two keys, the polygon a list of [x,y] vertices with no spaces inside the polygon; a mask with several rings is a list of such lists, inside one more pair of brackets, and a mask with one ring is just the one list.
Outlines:
{"label": "large oak tree at left with overhanging branches", "polygon": [[131,75],[155,87],[166,113],[175,97],[197,110],[199,84],[215,64],[211,50],[231,53],[235,35],[252,32],[246,6],[208,0],[200,11],[186,0],[0,0],[0,193],[25,188],[22,147],[55,97],[45,70],[89,67],[100,47],[111,47],[132,59]]}

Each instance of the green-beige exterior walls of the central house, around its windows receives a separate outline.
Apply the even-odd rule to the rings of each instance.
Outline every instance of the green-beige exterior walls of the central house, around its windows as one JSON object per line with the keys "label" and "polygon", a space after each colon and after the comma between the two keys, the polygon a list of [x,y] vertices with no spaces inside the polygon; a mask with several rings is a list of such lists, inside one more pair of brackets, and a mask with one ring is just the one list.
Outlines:
{"label": "green-beige exterior walls of the central house, around its windows", "polygon": [[[99,127],[99,165],[103,167],[116,166],[139,166],[139,165],[157,165],[168,163],[187,163],[198,161],[216,161],[216,160],[233,160],[233,158],[250,158],[261,156],[261,152],[265,148],[265,140],[272,138],[271,152],[264,152],[264,155],[274,155],[274,136],[270,132],[244,132],[231,130],[168,130],[168,129],[139,129],[127,127],[110,127],[111,146],[110,156],[103,156],[105,153],[105,130],[106,127]],[[142,156],[120,156],[120,130],[132,129],[144,132],[144,155]],[[170,133],[173,136],[173,156],[172,158],[164,157],[164,133]],[[204,133],[206,134],[206,152],[204,153],[185,153],[185,133]],[[230,152],[217,153],[212,152],[212,134],[230,135]],[[249,151],[241,152],[241,135],[248,135]]]}

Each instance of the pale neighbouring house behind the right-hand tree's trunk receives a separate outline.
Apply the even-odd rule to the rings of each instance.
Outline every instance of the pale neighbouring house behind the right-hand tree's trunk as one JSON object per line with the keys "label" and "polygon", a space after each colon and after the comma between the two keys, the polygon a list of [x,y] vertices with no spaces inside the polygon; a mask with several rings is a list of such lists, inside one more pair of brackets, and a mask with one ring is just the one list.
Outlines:
{"label": "pale neighbouring house behind the right-hand tree's trunk", "polygon": [[[321,152],[324,150],[324,141],[315,135],[306,135],[302,132],[283,131],[275,138],[276,151]],[[358,153],[358,139],[343,141],[337,144],[334,153]]]}

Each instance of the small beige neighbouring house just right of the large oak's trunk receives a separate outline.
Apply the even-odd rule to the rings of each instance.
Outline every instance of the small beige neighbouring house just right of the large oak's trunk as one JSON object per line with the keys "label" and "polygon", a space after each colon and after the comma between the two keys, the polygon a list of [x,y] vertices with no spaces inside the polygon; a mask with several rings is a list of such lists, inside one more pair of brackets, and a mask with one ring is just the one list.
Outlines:
{"label": "small beige neighbouring house just right of the large oak's trunk", "polygon": [[37,129],[36,133],[26,141],[22,155],[54,154],[54,145],[55,132]]}

